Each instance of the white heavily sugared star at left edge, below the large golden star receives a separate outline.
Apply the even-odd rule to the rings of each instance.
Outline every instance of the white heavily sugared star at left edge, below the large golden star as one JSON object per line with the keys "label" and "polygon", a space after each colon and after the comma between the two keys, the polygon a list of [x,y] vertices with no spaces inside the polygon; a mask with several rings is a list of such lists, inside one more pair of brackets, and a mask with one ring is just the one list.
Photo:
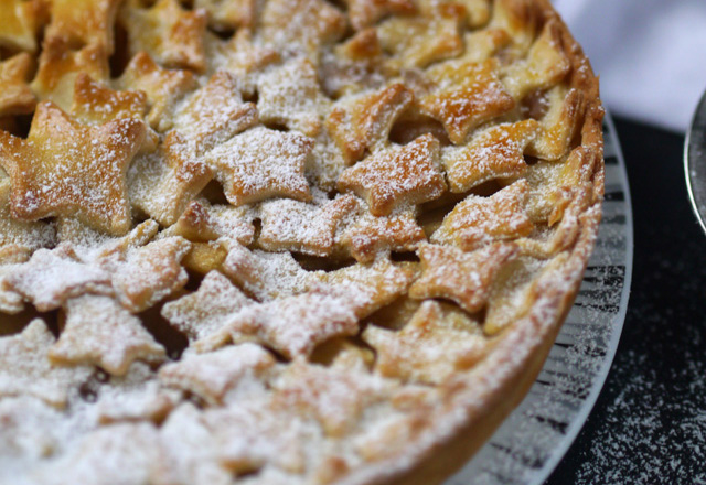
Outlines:
{"label": "white heavily sugared star at left edge, below the large golden star", "polygon": [[111,294],[110,273],[79,262],[69,246],[38,249],[4,278],[4,287],[21,294],[40,312],[60,308],[86,293]]}

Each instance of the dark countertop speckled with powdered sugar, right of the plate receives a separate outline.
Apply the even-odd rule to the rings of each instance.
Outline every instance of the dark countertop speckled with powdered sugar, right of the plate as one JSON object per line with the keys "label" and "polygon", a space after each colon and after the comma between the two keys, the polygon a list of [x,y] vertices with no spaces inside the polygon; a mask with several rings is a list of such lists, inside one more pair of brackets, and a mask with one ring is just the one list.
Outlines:
{"label": "dark countertop speckled with powdered sugar, right of the plate", "polygon": [[620,346],[584,429],[545,485],[706,484],[706,235],[684,136],[621,118],[634,269]]}

